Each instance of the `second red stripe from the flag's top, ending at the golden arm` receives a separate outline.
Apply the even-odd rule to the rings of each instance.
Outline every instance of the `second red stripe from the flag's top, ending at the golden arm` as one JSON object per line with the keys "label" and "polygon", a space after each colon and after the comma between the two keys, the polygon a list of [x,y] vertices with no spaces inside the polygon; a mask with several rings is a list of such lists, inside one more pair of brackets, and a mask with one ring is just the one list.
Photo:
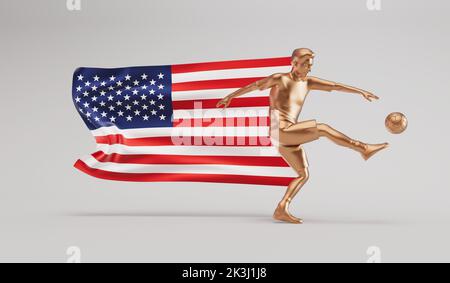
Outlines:
{"label": "second red stripe from the flag's top, ending at the golden arm", "polygon": [[247,86],[251,83],[254,83],[256,81],[259,81],[261,79],[264,79],[264,77],[240,78],[240,79],[220,79],[220,80],[173,83],[172,91],[241,88],[241,87]]}

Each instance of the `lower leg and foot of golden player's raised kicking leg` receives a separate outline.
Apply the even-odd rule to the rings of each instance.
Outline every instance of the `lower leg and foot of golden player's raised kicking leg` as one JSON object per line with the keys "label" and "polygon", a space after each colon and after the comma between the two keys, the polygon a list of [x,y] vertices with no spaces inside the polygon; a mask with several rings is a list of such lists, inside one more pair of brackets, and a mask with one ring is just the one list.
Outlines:
{"label": "lower leg and foot of golden player's raised kicking leg", "polygon": [[319,136],[326,137],[337,145],[344,146],[361,153],[365,160],[369,159],[375,153],[385,149],[389,145],[388,143],[366,144],[351,139],[327,124],[317,124],[317,129],[319,130]]}

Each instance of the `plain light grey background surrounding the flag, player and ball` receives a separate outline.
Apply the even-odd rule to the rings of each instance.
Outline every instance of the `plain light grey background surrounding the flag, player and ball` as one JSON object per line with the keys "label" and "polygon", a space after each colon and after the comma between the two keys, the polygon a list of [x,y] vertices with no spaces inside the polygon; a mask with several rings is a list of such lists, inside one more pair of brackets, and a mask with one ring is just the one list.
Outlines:
{"label": "plain light grey background surrounding the flag, player and ball", "polygon": [[[0,261],[449,261],[449,1],[0,2]],[[78,66],[120,67],[317,53],[313,75],[382,99],[314,92],[316,118],[391,148],[364,162],[305,146],[311,180],[274,223],[284,188],[117,183],[72,168],[95,150],[71,101]],[[288,71],[288,70],[287,70]],[[407,114],[390,135],[384,117]]]}

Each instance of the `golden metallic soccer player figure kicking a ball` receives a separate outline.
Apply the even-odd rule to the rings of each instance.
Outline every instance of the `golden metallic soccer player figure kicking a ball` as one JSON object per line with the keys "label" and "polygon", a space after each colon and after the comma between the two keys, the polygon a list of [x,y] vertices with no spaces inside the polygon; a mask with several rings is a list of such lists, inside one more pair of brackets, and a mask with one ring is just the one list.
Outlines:
{"label": "golden metallic soccer player figure kicking a ball", "polygon": [[294,217],[289,212],[289,204],[309,178],[308,160],[303,144],[326,137],[340,146],[359,152],[365,160],[388,147],[388,143],[367,144],[353,140],[331,126],[317,123],[315,120],[297,122],[310,90],[355,93],[368,101],[379,99],[362,89],[308,76],[313,66],[314,56],[314,52],[310,49],[298,48],[292,53],[292,69],[289,73],[276,73],[254,82],[231,93],[217,104],[217,107],[223,105],[226,108],[233,98],[251,91],[270,88],[271,129],[278,131],[276,135],[273,135],[271,130],[271,137],[277,136],[278,151],[298,174],[298,177],[289,184],[273,216],[276,220],[283,222],[303,223],[302,219]]}

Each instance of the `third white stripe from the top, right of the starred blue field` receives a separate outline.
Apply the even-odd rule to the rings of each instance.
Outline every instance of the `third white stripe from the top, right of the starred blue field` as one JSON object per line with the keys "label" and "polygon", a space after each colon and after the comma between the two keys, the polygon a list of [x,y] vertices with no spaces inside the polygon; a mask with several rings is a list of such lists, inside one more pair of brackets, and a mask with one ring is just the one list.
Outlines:
{"label": "third white stripe from the top, right of the starred blue field", "polygon": [[269,107],[237,107],[227,108],[199,108],[194,110],[174,110],[174,119],[209,119],[209,118],[235,118],[235,117],[268,117]]}

